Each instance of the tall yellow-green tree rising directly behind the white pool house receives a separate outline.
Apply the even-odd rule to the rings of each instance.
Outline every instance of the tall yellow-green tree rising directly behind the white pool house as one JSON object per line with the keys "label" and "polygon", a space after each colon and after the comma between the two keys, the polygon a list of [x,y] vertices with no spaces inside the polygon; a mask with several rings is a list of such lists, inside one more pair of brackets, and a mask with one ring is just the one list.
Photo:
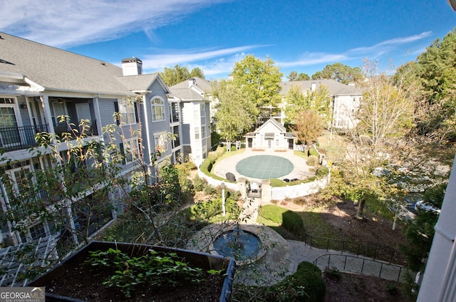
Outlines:
{"label": "tall yellow-green tree rising directly behind the white pool house", "polygon": [[269,57],[261,61],[253,55],[247,55],[234,64],[231,76],[234,83],[244,90],[249,103],[257,108],[259,120],[269,118],[281,91],[282,73],[274,61]]}

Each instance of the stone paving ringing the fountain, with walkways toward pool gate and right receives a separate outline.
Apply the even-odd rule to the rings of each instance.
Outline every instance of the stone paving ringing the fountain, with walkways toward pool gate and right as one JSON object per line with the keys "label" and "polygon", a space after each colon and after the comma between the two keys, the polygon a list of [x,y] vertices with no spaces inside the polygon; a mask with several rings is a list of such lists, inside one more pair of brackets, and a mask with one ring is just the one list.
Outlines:
{"label": "stone paving ringing the fountain, with walkways toward pool gate and right", "polygon": [[[338,269],[356,274],[376,276],[387,280],[403,279],[405,269],[387,262],[326,249],[316,249],[303,241],[286,240],[276,231],[257,224],[260,199],[244,202],[239,225],[242,230],[256,235],[261,240],[257,259],[237,261],[236,282],[249,285],[269,286],[293,274],[299,263],[315,263],[320,269]],[[236,226],[236,222],[210,224],[199,231],[187,244],[187,249],[217,254],[214,241]]]}

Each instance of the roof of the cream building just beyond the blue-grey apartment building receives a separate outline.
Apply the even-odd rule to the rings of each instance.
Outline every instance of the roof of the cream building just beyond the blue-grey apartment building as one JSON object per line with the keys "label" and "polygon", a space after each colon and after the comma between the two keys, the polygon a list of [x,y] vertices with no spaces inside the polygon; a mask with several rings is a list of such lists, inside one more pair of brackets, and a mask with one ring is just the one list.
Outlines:
{"label": "roof of the cream building just beyond the blue-grey apartment building", "polygon": [[[190,88],[189,81],[193,80],[192,88]],[[195,91],[196,88],[196,91]],[[207,100],[205,95],[211,90],[211,84],[208,80],[194,77],[189,80],[185,80],[176,85],[170,87],[170,96],[180,98],[181,100]],[[199,91],[200,93],[198,93]]]}

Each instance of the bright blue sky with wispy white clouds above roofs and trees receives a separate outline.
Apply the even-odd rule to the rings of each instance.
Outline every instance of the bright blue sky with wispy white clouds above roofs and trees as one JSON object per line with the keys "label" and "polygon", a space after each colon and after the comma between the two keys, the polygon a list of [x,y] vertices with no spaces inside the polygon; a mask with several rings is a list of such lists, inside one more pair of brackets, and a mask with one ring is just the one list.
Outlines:
{"label": "bright blue sky with wispy white clouds above roofs and trees", "polygon": [[[398,67],[456,26],[446,0],[1,0],[0,31],[145,73],[176,64],[224,78],[247,54],[284,73],[363,58]],[[0,49],[1,53],[1,49]]]}

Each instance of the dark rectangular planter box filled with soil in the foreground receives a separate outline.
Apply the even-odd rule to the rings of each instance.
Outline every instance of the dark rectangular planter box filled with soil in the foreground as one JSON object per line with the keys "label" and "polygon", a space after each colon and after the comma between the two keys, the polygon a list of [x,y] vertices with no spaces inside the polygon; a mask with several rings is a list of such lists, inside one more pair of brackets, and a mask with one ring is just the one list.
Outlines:
{"label": "dark rectangular planter box filled with soil in the foreground", "polygon": [[[103,281],[108,276],[106,269],[86,263],[89,251],[118,249],[130,256],[142,256],[150,249],[157,252],[175,253],[189,266],[204,271],[202,281],[175,280],[176,286],[152,288],[148,284],[136,286],[131,297],[115,286],[107,287]],[[233,259],[183,249],[142,244],[121,244],[92,241],[61,264],[36,278],[28,286],[46,286],[46,301],[202,301],[227,302],[232,290],[235,264]],[[211,269],[224,270],[226,274],[208,274]]]}

